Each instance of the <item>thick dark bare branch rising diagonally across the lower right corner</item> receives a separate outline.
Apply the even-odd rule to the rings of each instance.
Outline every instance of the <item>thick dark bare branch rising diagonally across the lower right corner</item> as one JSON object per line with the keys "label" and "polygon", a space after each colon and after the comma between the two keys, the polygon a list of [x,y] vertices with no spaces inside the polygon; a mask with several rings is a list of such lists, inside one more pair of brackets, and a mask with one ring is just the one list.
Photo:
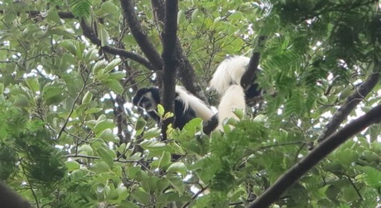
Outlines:
{"label": "thick dark bare branch rising diagonally across the lower right corner", "polygon": [[361,132],[368,126],[381,121],[381,105],[374,107],[368,113],[353,120],[344,128],[333,133],[300,162],[293,165],[271,187],[259,196],[250,208],[265,208],[274,203],[290,186],[297,182],[300,177],[316,165],[321,159],[333,152],[338,146],[350,137]]}

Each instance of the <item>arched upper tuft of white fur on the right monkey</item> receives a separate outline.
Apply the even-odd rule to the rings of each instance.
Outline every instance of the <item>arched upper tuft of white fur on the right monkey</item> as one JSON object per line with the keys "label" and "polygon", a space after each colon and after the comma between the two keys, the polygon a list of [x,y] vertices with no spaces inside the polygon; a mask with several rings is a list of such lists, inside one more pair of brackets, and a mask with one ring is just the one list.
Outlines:
{"label": "arched upper tuft of white fur on the right monkey", "polygon": [[226,58],[218,65],[210,80],[210,89],[216,90],[222,96],[230,85],[240,84],[241,77],[245,73],[250,58],[238,55]]}

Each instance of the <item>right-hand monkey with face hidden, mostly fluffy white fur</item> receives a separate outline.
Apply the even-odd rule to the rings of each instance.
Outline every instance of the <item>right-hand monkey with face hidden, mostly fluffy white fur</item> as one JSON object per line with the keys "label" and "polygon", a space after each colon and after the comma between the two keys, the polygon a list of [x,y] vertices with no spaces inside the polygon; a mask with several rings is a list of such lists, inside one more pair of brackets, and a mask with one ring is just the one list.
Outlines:
{"label": "right-hand monkey with face hidden, mostly fluffy white fur", "polygon": [[257,84],[252,84],[246,91],[241,87],[241,77],[246,71],[250,58],[246,56],[230,56],[218,65],[210,80],[209,88],[217,91],[221,97],[218,105],[218,126],[217,129],[223,130],[222,122],[226,118],[236,118],[235,109],[245,112],[246,98],[259,96],[261,91]]}

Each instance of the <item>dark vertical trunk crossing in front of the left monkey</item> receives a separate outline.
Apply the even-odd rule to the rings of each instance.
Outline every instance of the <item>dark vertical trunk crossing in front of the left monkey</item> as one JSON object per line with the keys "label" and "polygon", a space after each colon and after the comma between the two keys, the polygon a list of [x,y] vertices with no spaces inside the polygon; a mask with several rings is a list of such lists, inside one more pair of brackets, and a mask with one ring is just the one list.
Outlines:
{"label": "dark vertical trunk crossing in front of the left monkey", "polygon": [[[164,70],[162,79],[162,104],[166,112],[173,112],[175,105],[175,74],[178,62],[176,60],[176,41],[177,41],[177,12],[178,1],[165,1],[165,21],[163,34],[163,60]],[[162,133],[164,140],[166,139],[166,131],[168,124],[172,123],[174,118],[163,121]]]}

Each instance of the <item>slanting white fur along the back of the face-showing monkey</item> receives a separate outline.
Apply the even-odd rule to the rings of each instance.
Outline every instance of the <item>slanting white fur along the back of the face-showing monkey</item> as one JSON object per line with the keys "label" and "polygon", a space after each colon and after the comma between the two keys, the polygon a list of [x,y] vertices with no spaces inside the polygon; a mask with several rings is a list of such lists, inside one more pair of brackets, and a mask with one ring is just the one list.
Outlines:
{"label": "slanting white fur along the back of the face-showing monkey", "polygon": [[200,99],[188,92],[184,87],[176,86],[176,93],[179,95],[180,100],[185,106],[184,111],[191,108],[196,113],[196,116],[200,117],[202,120],[208,120],[213,116],[212,109],[210,109],[210,107]]}

